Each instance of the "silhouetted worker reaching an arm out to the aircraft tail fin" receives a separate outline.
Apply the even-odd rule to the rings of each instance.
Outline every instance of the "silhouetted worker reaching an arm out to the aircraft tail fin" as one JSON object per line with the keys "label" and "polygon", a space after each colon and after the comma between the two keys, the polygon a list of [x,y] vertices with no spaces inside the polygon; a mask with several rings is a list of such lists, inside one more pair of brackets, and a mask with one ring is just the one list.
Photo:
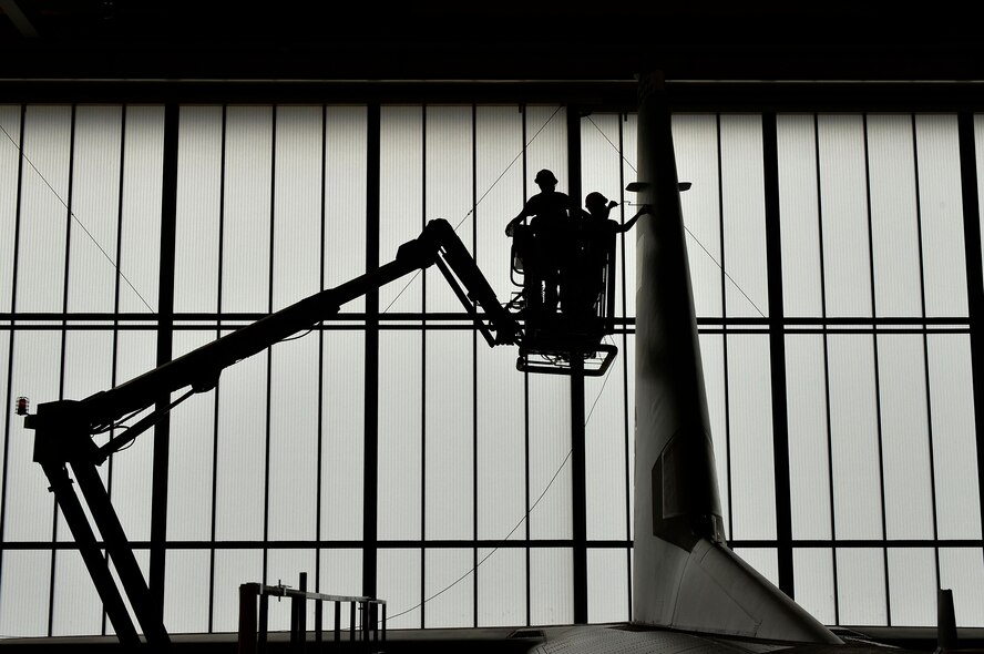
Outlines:
{"label": "silhouetted worker reaching an arm out to the aircraft tail fin", "polygon": [[570,293],[564,303],[565,313],[582,316],[594,314],[605,293],[605,273],[609,257],[615,256],[615,235],[628,232],[639,216],[649,213],[649,206],[644,205],[636,215],[621,224],[608,217],[618,203],[598,192],[588,193],[584,206],[587,211],[577,211],[577,245],[565,279]]}

